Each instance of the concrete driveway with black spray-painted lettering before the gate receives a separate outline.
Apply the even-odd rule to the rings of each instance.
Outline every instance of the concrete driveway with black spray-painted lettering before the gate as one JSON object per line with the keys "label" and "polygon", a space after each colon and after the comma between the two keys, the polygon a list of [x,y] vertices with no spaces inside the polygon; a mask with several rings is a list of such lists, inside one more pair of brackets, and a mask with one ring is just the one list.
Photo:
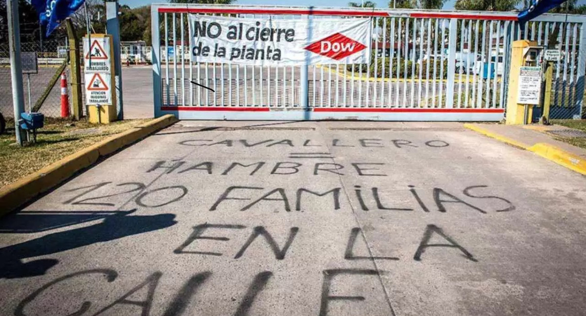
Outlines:
{"label": "concrete driveway with black spray-painted lettering before the gate", "polygon": [[583,315],[586,177],[458,123],[179,122],[0,222],[2,315]]}

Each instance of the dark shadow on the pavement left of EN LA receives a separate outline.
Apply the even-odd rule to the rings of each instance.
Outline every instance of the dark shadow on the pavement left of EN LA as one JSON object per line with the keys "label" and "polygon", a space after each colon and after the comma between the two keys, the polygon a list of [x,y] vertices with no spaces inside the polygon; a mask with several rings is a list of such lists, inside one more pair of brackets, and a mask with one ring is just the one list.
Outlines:
{"label": "dark shadow on the pavement left of EN LA", "polygon": [[[63,214],[57,212],[56,215],[38,214],[38,221],[44,222],[53,228],[67,225],[79,224],[96,218],[104,217],[104,221],[91,226],[71,229],[69,231],[50,233],[40,238],[32,239],[0,249],[0,279],[16,279],[21,277],[31,277],[43,275],[51,267],[59,263],[57,259],[39,259],[32,262],[23,263],[22,259],[51,255],[57,252],[63,252],[93,243],[113,241],[114,239],[126,236],[137,235],[158,229],[168,228],[175,225],[175,215],[158,214],[158,215],[131,215],[134,210],[129,212],[119,212],[114,215],[104,215],[104,212],[84,212],[81,215],[67,214],[67,218],[60,217]],[[88,215],[88,213],[90,213]],[[27,216],[27,215],[23,215]],[[39,218],[43,217],[43,218]],[[15,219],[13,219],[15,221]],[[11,220],[8,220],[11,222]],[[15,224],[13,228],[20,231],[43,231],[46,225],[38,225],[29,221],[30,227],[26,228],[25,224]],[[3,232],[8,231],[7,225],[3,225]]]}

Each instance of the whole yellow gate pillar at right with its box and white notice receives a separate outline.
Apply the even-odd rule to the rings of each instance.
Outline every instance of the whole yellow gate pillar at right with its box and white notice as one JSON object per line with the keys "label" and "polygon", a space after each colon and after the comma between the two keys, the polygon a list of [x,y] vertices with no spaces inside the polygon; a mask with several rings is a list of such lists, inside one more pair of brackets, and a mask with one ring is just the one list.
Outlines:
{"label": "whole yellow gate pillar at right with its box and white notice", "polygon": [[531,123],[533,106],[541,102],[541,51],[543,47],[537,46],[537,42],[513,42],[507,96],[507,125]]}

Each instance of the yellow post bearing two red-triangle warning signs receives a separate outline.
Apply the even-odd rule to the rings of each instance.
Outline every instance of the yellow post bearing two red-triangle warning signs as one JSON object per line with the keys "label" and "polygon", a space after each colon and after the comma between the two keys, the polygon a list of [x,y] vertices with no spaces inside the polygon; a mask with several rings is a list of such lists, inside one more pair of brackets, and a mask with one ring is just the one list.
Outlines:
{"label": "yellow post bearing two red-triangle warning signs", "polygon": [[[90,123],[116,121],[112,36],[94,34],[83,39],[84,88]],[[91,64],[88,61],[91,59]]]}

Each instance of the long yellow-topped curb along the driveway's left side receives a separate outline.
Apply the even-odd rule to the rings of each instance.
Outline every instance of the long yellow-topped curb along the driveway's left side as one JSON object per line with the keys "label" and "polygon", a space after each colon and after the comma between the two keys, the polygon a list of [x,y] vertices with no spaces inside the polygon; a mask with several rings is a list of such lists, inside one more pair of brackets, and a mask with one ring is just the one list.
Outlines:
{"label": "long yellow-topped curb along the driveway's left side", "polygon": [[39,194],[62,183],[84,168],[96,163],[100,157],[107,156],[122,147],[137,142],[177,122],[175,116],[168,114],[136,126],[125,132],[118,133],[104,139],[90,147],[64,157],[29,176],[23,177],[15,183],[0,188],[0,217],[20,207]]}

